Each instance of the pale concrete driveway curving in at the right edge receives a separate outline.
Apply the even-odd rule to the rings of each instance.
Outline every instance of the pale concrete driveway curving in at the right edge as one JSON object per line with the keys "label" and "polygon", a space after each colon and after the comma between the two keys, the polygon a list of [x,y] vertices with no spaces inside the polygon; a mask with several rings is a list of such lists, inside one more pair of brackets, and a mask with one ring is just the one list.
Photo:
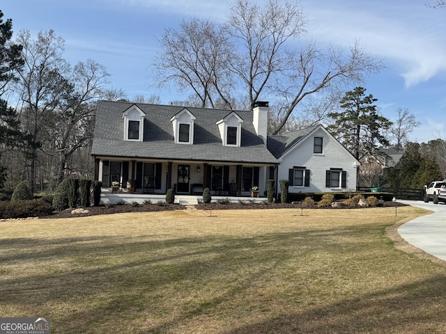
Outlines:
{"label": "pale concrete driveway curving in at the right edge", "polygon": [[446,205],[425,203],[422,200],[398,200],[398,202],[434,212],[404,223],[398,228],[398,233],[409,244],[446,261]]}

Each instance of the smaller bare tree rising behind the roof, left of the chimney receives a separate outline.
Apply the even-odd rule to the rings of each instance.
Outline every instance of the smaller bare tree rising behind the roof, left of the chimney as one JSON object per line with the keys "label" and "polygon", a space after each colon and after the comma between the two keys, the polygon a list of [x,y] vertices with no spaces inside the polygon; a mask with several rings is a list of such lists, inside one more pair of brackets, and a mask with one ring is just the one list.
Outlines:
{"label": "smaller bare tree rising behind the roof, left of the chimney", "polygon": [[220,98],[230,104],[231,80],[225,62],[233,50],[226,27],[205,19],[181,22],[178,30],[166,29],[155,58],[155,82],[174,82],[182,90],[192,89],[201,106],[215,106]]}

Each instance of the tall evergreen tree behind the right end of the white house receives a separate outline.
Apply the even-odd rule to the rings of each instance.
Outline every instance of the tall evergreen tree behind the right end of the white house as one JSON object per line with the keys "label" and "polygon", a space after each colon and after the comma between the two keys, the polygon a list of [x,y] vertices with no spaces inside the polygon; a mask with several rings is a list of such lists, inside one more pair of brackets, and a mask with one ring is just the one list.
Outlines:
{"label": "tall evergreen tree behind the right end of the white house", "polygon": [[388,129],[392,122],[380,116],[373,95],[365,95],[365,88],[356,87],[342,98],[341,109],[329,113],[334,123],[328,130],[336,137],[356,159],[366,152],[374,152],[378,145],[389,145],[382,130]]}

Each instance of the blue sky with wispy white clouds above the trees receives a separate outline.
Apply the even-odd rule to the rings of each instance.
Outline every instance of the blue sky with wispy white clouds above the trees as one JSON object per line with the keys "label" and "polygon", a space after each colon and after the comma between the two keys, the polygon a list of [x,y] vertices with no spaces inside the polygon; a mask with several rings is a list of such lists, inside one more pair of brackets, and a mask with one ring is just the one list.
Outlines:
{"label": "blue sky with wispy white clouds above the trees", "polygon": [[[407,108],[422,125],[412,141],[446,139],[446,8],[429,0],[301,0],[307,37],[348,47],[356,40],[386,68],[363,86],[390,120]],[[163,104],[185,100],[175,90],[149,88],[150,64],[164,28],[195,16],[223,21],[226,0],[4,0],[13,31],[53,29],[66,40],[65,58],[75,65],[92,58],[112,74],[112,86],[128,97],[157,94]],[[353,89],[353,87],[352,87]]]}

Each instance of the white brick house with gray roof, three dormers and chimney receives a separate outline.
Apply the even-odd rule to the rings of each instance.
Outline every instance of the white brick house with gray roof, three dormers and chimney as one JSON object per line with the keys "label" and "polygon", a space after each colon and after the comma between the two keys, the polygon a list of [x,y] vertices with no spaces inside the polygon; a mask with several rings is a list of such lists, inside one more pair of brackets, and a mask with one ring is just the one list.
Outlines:
{"label": "white brick house with gray roof, three dormers and chimney", "polygon": [[[357,161],[321,125],[267,136],[268,102],[252,111],[98,102],[92,155],[103,193],[249,196],[268,179],[290,192],[355,189]],[[277,184],[278,182],[276,182]],[[280,190],[277,189],[277,192]]]}

